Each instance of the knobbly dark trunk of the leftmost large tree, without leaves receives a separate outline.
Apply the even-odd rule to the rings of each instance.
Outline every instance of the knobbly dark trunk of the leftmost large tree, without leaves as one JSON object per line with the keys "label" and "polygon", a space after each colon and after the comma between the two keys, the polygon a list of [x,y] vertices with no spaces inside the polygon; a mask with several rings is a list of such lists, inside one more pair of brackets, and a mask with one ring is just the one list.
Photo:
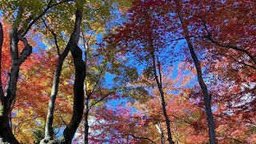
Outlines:
{"label": "knobbly dark trunk of the leftmost large tree, without leaves", "polygon": [[[20,14],[18,14],[20,15]],[[18,42],[21,40],[25,47],[21,54],[18,54]],[[11,69],[9,73],[9,82],[6,87],[6,94],[2,100],[3,114],[0,116],[0,137],[3,138],[4,142],[18,143],[17,139],[14,137],[10,127],[10,116],[11,116],[11,106],[16,98],[17,82],[18,82],[18,72],[19,67],[26,58],[32,53],[32,46],[27,43],[26,38],[22,38],[18,35],[18,29],[14,23],[14,26],[10,33],[10,54],[11,54]],[[18,57],[20,55],[20,57]]]}

